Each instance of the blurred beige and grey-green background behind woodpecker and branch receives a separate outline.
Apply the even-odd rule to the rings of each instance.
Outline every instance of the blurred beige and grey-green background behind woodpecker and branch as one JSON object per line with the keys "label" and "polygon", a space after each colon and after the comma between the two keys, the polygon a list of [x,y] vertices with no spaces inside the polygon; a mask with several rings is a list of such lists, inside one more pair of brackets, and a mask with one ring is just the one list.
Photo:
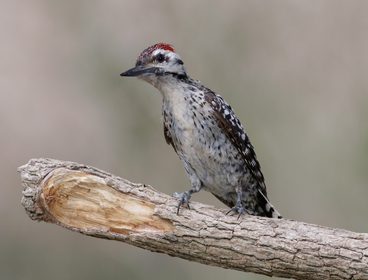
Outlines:
{"label": "blurred beige and grey-green background behind woodpecker and branch", "polygon": [[368,232],[368,1],[15,0],[0,22],[0,279],[269,279],[36,223],[20,203],[17,168],[41,157],[190,189],[159,91],[119,75],[159,42],[233,107],[285,218]]}

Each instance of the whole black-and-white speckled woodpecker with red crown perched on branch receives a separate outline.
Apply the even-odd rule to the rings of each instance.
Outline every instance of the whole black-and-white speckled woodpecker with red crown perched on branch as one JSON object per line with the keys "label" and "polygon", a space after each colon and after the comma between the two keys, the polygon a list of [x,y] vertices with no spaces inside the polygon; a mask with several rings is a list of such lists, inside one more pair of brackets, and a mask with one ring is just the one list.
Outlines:
{"label": "whole black-and-white speckled woodpecker with red crown perched on branch", "polygon": [[120,76],[138,77],[163,97],[163,130],[187,172],[192,189],[178,198],[189,206],[203,189],[240,215],[282,218],[269,202],[254,148],[233,109],[219,94],[192,80],[173,46],[155,44],[138,56],[135,67]]}

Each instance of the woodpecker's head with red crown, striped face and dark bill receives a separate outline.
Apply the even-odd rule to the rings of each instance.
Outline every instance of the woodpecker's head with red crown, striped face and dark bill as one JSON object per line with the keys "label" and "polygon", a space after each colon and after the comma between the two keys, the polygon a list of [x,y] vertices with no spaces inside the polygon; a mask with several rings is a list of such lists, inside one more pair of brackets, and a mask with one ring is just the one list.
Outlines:
{"label": "woodpecker's head with red crown, striped face and dark bill", "polygon": [[173,46],[164,43],[155,44],[138,56],[135,67],[120,76],[138,77],[155,87],[175,79],[187,78],[187,72],[180,56],[174,52]]}

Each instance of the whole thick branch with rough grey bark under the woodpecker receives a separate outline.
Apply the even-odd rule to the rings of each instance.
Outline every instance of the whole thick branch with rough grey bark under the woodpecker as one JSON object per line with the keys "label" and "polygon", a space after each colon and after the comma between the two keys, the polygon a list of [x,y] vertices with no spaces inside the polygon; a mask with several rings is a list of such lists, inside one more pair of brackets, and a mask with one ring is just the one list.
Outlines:
{"label": "whole thick branch with rough grey bark under the woodpecker", "polygon": [[31,159],[21,166],[32,220],[189,261],[293,279],[368,279],[368,234],[242,215],[177,199],[92,166]]}

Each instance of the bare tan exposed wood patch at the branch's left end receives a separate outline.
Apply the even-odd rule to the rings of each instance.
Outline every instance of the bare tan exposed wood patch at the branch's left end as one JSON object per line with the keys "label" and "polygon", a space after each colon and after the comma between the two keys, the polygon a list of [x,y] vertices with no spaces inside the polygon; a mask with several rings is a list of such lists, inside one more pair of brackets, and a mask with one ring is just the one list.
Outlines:
{"label": "bare tan exposed wood patch at the branch's left end", "polygon": [[155,204],[117,191],[100,177],[58,168],[42,184],[42,208],[64,225],[119,234],[174,230],[170,221],[153,215]]}

